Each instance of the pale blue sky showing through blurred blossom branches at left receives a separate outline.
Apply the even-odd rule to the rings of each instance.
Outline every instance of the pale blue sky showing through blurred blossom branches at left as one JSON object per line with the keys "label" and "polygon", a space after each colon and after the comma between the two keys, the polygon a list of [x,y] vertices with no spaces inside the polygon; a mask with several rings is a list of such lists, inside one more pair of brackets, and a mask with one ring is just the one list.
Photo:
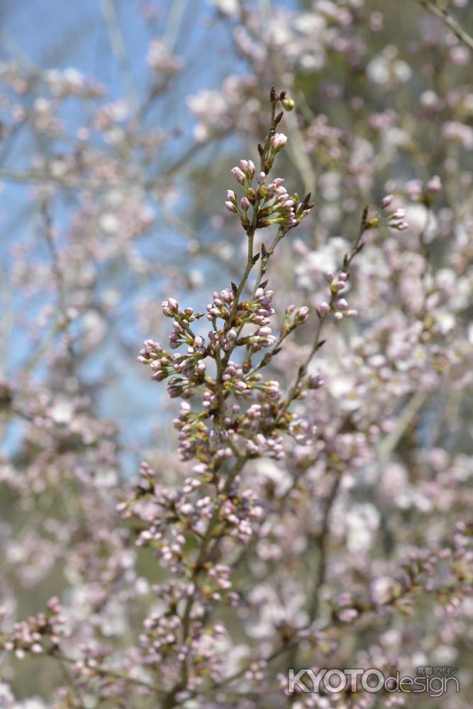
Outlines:
{"label": "pale blue sky showing through blurred blossom branches at left", "polygon": [[[152,16],[149,23],[143,17],[143,8],[148,10],[148,16]],[[112,48],[117,41],[116,34],[113,34],[115,23],[118,41],[123,43],[123,48],[118,50],[116,46]],[[125,100],[132,106],[143,101],[150,86],[146,56],[152,37],[164,37],[168,46],[185,62],[184,71],[172,82],[171,99],[158,101],[145,119],[148,128],[178,130],[179,137],[172,143],[172,152],[163,157],[164,161],[173,162],[193,140],[195,119],[186,97],[199,89],[219,86],[229,73],[243,71],[242,65],[235,63],[230,48],[228,24],[218,20],[211,2],[156,0],[145,4],[135,0],[2,0],[0,4],[0,62],[16,60],[27,67],[41,69],[74,67],[87,78],[106,86],[107,101]],[[67,101],[63,109],[65,123],[72,135],[82,119],[82,108],[78,106],[80,102],[74,99]],[[54,145],[54,150],[58,148],[60,145]],[[33,138],[28,129],[21,129],[6,147],[0,146],[0,171],[27,172],[32,155],[48,153],[50,149],[49,145],[38,142],[37,137]],[[219,150],[231,152],[232,143],[221,144]],[[162,165],[159,172],[161,168]],[[226,185],[222,189],[224,187]],[[0,278],[2,289],[11,298],[9,307],[13,306],[16,314],[24,308],[39,309],[45,304],[36,299],[34,304],[26,305],[23,294],[16,292],[9,282],[13,268],[12,246],[21,245],[23,240],[31,237],[32,230],[38,230],[37,205],[31,200],[32,189],[32,184],[1,180],[0,172]],[[61,194],[56,211],[59,231],[67,227],[68,210],[73,207],[74,196]],[[184,211],[185,204],[180,201],[174,208]],[[160,227],[141,239],[137,247],[146,257],[155,257],[158,250],[160,258],[169,257],[172,262],[180,251],[184,252],[185,245],[186,238],[179,229]],[[41,250],[38,255],[45,256]],[[210,290],[227,284],[225,274],[218,276],[221,282],[214,283]],[[133,284],[123,282],[125,295],[118,303],[116,318],[127,342],[138,353],[143,337],[152,337],[155,333],[140,332],[133,299],[136,296],[155,298],[159,308],[162,293],[160,284],[148,283],[140,293],[133,292],[133,287]],[[206,284],[200,293],[194,293],[193,304],[200,297],[199,307],[203,308],[208,300],[208,290]],[[8,319],[7,308],[3,309],[3,317]],[[33,316],[33,311],[28,314]],[[158,387],[150,382],[148,371],[142,371],[143,365],[136,364],[134,356],[123,358],[113,351],[113,340],[111,345],[111,348],[102,347],[99,354],[89,359],[82,374],[93,382],[114,370],[106,394],[100,398],[101,414],[118,421],[122,440],[132,451],[135,450],[136,456],[132,453],[126,462],[132,470],[138,463],[138,451],[145,441],[150,440],[150,433],[152,440],[153,428],[169,429],[169,417],[160,411],[161,403],[165,402],[165,386]],[[13,383],[29,356],[28,347],[28,338],[18,323],[14,323],[9,337],[4,338],[0,347],[0,372],[3,369],[4,376],[11,378]],[[38,367],[37,376],[40,377],[41,372]],[[16,424],[9,429],[7,438],[11,445],[18,440],[20,432]],[[163,433],[165,442],[172,446],[173,436],[162,430]]]}

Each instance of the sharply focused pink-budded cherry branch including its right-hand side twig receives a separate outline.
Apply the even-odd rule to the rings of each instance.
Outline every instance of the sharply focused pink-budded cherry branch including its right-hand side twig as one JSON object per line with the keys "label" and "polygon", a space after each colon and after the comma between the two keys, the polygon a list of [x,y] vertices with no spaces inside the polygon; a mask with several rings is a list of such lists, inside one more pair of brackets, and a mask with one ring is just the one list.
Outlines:
{"label": "sharply focused pink-budded cherry branch including its right-hand side twig", "polygon": [[[155,547],[155,553],[163,562],[171,564],[174,575],[180,577],[182,587],[187,589],[181,611],[174,608],[176,620],[172,627],[165,629],[169,638],[173,638],[166,645],[168,657],[174,652],[181,668],[177,681],[167,693],[164,705],[169,707],[177,694],[189,686],[191,674],[196,671],[188,648],[203,632],[203,619],[213,604],[231,604],[237,598],[232,590],[230,570],[217,563],[217,549],[221,548],[223,540],[226,545],[230,540],[247,543],[262,515],[257,501],[240,490],[243,468],[248,460],[256,457],[282,459],[284,434],[300,445],[316,437],[313,421],[291,413],[291,403],[303,396],[304,391],[323,386],[321,376],[307,374],[308,364],[323,345],[321,331],[326,318],[333,314],[335,320],[341,320],[343,316],[357,314],[344,296],[350,265],[364,246],[362,236],[374,228],[374,220],[379,223],[379,215],[389,207],[391,200],[390,196],[384,198],[379,211],[371,217],[369,208],[365,208],[352,251],[345,256],[338,274],[327,275],[330,297],[316,311],[316,338],[299,367],[293,386],[284,396],[280,382],[265,379],[261,370],[279,353],[286,337],[308,320],[309,311],[306,306],[288,306],[279,334],[273,334],[273,291],[263,277],[279,241],[299,225],[313,205],[310,195],[299,201],[297,195],[287,193],[283,179],[269,178],[274,160],[286,144],[286,136],[276,132],[282,118],[282,114],[275,115],[278,101],[288,99],[284,93],[277,97],[272,89],[272,121],[264,145],[258,147],[260,171],[257,172],[252,160],[241,160],[232,173],[244,194],[238,198],[235,191],[227,191],[226,206],[238,215],[247,235],[247,264],[240,282],[232,282],[222,291],[213,292],[206,306],[206,319],[211,324],[207,335],[194,333],[192,329],[202,313],[194,313],[192,308],[182,309],[177,300],[167,298],[162,303],[162,311],[173,320],[170,347],[184,350],[170,354],[158,343],[147,340],[138,357],[140,362],[150,366],[153,379],[169,380],[170,396],[182,398],[180,413],[174,420],[179,453],[183,460],[195,462],[194,476],[185,481],[177,496],[158,491],[154,483],[150,486],[149,476],[142,486],[145,494],[155,498],[162,508],[162,522],[155,522],[143,531],[138,543]],[[399,211],[389,214],[386,223],[402,229],[399,220],[403,216]],[[267,250],[262,245],[260,253],[255,254],[256,230],[273,224],[278,225],[278,232],[271,247]],[[252,296],[244,299],[243,291],[258,261],[260,272]],[[260,352],[260,358],[255,361]],[[213,374],[208,367],[211,360]],[[140,515],[140,507],[130,501],[123,507],[123,513],[127,517]],[[173,520],[172,523],[169,520]],[[190,559],[183,548],[189,532],[198,541],[196,555],[191,555]],[[166,589],[161,595],[166,597]],[[169,603],[174,601],[169,598]],[[185,652],[184,648],[187,648]]]}

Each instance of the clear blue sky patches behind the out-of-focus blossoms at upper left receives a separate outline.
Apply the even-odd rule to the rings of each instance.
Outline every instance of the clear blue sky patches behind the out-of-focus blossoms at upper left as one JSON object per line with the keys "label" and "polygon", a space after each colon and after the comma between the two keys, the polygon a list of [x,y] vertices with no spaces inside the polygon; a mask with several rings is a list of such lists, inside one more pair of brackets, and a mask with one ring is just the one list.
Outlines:
{"label": "clear blue sky patches behind the out-of-focus blossoms at upper left", "polygon": [[[179,154],[191,140],[194,123],[185,97],[199,89],[218,86],[228,73],[239,72],[243,67],[235,64],[231,54],[228,26],[216,21],[215,8],[206,0],[155,0],[148,3],[155,15],[152,26],[146,26],[138,12],[142,5],[135,0],[3,0],[0,7],[0,61],[19,60],[43,69],[74,67],[104,84],[108,91],[107,100],[128,98],[140,103],[150,81],[145,64],[150,36],[164,35],[177,55],[184,58],[186,69],[174,81],[172,110],[169,110],[169,101],[165,101],[162,108],[158,104],[150,112],[147,123],[153,128],[179,128],[182,133],[173,148]],[[80,122],[77,105],[77,101],[65,105],[67,124],[71,127]],[[8,155],[3,156],[2,167],[17,171],[26,169],[31,154],[37,149],[31,135],[21,131],[11,144]],[[32,229],[38,229],[30,189],[29,184],[3,183],[0,193],[0,258],[4,272],[0,272],[0,278],[8,280],[11,245],[21,242]],[[69,198],[63,195],[60,199],[62,203],[56,213],[58,221],[67,219]],[[184,246],[179,233],[160,229],[159,238],[168,240],[177,250]],[[149,247],[150,242],[143,240],[141,248],[146,250]],[[217,287],[221,285],[216,284]],[[13,293],[13,303],[16,310],[21,310],[21,294]],[[37,306],[42,304],[36,303]],[[123,318],[126,338],[135,342],[137,350],[143,335],[152,335],[138,333],[130,301],[126,298],[117,310],[117,317]],[[7,374],[18,371],[18,365],[28,354],[21,331],[13,331],[12,339],[15,347],[8,353],[9,363],[0,361],[0,367]],[[103,373],[107,357],[109,352],[104,350],[101,356],[88,363],[85,374],[94,379]],[[148,437],[152,425],[160,425],[159,402],[165,386],[158,387],[143,377],[134,361],[123,362],[121,367],[125,374],[108,388],[101,407],[104,415],[118,418],[123,440],[137,443]]]}

